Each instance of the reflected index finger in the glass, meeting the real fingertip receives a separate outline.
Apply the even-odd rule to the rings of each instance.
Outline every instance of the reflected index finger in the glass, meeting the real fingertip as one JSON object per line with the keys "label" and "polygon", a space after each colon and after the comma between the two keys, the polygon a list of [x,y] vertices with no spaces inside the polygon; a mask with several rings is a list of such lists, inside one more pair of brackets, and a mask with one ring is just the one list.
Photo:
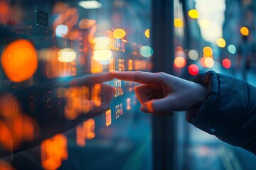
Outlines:
{"label": "reflected index finger in the glass, meeting the real fingertip", "polygon": [[99,74],[88,74],[83,77],[78,77],[70,81],[70,86],[92,86],[94,84],[101,84],[105,81],[114,79],[114,75],[111,72],[103,72]]}

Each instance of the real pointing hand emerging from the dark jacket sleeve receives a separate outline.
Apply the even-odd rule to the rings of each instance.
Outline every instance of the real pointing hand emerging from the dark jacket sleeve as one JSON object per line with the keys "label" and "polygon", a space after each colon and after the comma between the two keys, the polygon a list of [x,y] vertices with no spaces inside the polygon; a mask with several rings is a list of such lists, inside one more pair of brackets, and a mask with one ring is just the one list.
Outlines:
{"label": "real pointing hand emerging from the dark jacket sleeve", "polygon": [[171,111],[188,111],[206,100],[207,89],[201,84],[166,73],[113,72],[115,78],[139,84],[134,91],[142,104],[141,111],[171,115]]}

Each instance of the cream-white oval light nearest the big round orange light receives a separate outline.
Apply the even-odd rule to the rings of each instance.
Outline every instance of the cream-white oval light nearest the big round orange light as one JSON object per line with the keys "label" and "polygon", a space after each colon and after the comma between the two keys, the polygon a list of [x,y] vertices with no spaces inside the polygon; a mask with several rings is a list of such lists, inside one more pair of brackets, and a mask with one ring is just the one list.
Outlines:
{"label": "cream-white oval light nearest the big round orange light", "polygon": [[71,48],[64,48],[58,52],[59,62],[73,62],[76,58],[76,53]]}

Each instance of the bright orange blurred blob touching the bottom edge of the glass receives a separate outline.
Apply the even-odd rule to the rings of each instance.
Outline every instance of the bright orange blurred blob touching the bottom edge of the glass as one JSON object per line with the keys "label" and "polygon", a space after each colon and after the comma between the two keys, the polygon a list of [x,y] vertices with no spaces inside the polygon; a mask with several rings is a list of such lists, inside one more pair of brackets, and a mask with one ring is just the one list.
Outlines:
{"label": "bright orange blurred blob touching the bottom edge of the glass", "polygon": [[68,145],[65,135],[55,135],[41,143],[41,164],[43,169],[58,169],[68,159]]}

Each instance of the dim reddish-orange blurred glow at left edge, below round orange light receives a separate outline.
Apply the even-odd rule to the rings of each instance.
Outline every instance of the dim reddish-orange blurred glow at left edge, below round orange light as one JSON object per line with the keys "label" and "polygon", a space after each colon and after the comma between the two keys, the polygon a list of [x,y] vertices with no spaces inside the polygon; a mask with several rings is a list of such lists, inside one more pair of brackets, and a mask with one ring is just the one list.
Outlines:
{"label": "dim reddish-orange blurred glow at left edge, below round orange light", "polygon": [[0,97],[0,145],[4,149],[18,148],[23,141],[32,141],[38,134],[38,125],[21,113],[18,101],[11,94]]}

